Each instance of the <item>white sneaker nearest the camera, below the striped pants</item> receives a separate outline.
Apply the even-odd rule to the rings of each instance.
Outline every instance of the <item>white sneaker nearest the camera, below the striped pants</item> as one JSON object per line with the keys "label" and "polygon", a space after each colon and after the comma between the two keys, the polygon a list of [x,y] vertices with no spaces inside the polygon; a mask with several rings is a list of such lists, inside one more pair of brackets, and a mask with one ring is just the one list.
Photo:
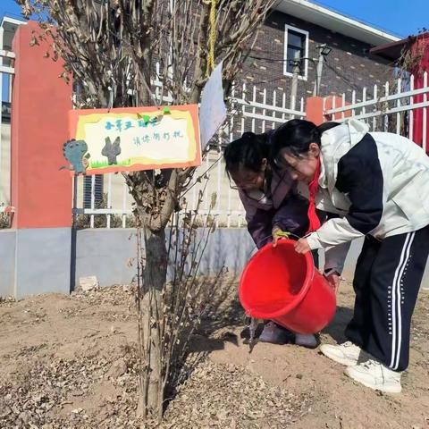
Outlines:
{"label": "white sneaker nearest the camera, below the striped pants", "polygon": [[349,366],[344,371],[350,378],[374,391],[385,391],[387,393],[400,393],[400,374],[392,371],[380,362],[369,359],[357,366]]}

